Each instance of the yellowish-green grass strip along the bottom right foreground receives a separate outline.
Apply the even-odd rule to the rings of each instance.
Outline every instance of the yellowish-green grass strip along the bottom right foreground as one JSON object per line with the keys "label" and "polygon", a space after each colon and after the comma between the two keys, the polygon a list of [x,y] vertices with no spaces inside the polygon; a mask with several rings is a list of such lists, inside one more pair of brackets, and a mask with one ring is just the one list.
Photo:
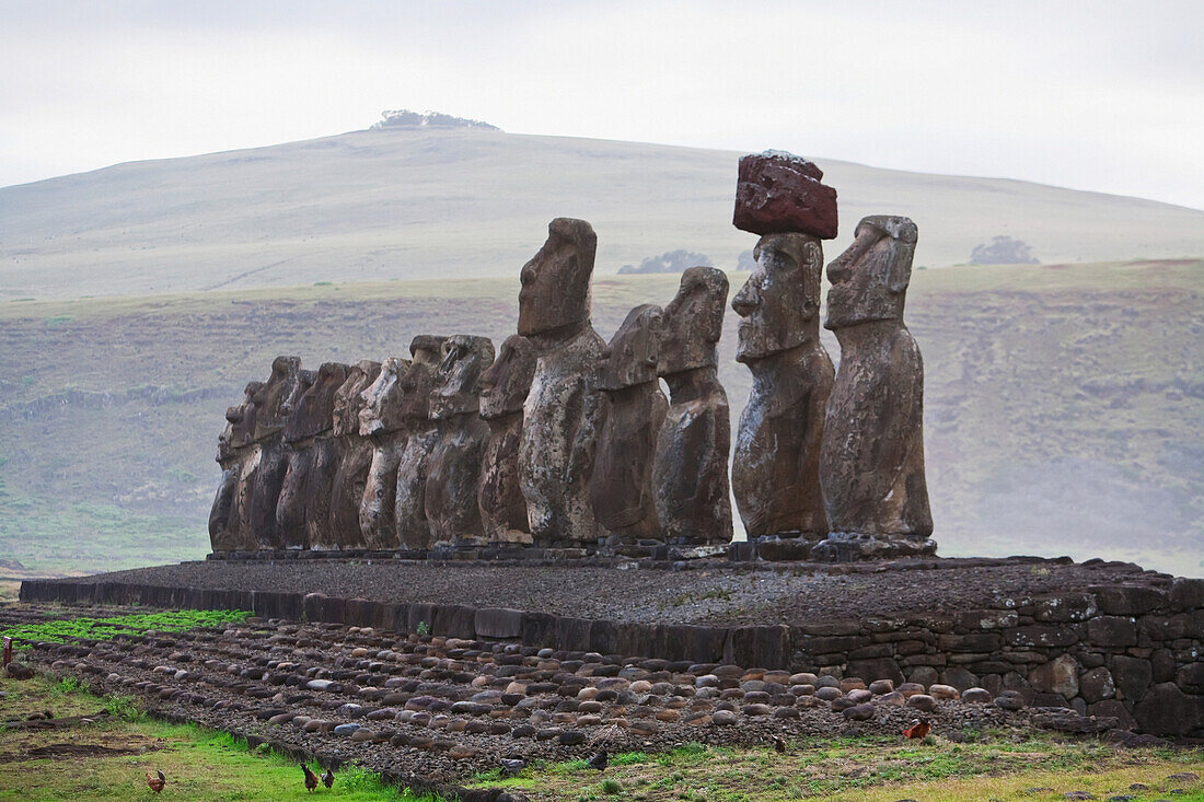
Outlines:
{"label": "yellowish-green grass strip along the bottom right foreground", "polygon": [[[521,789],[533,800],[1021,800],[1062,798],[1088,790],[1099,798],[1150,785],[1138,800],[1153,800],[1171,786],[1204,797],[1204,784],[1174,783],[1180,772],[1204,772],[1204,750],[1119,749],[1088,741],[1062,741],[1019,731],[978,733],[967,743],[936,738],[911,744],[891,737],[805,738],[786,755],[768,748],[708,747],[687,743],[668,751],[621,753],[606,774],[573,760],[529,767],[520,777],[496,772],[476,784]],[[1026,794],[1050,786],[1050,795]]]}

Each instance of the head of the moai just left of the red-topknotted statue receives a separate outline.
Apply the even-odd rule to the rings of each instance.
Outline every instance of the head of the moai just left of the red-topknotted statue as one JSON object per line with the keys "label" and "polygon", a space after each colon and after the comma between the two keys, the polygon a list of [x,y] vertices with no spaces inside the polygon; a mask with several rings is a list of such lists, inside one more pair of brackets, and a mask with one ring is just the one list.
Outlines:
{"label": "head of the moai just left of the red-topknotted statue", "polygon": [[724,332],[727,276],[716,267],[681,273],[678,294],[665,307],[656,372],[672,376],[719,364],[715,343]]}

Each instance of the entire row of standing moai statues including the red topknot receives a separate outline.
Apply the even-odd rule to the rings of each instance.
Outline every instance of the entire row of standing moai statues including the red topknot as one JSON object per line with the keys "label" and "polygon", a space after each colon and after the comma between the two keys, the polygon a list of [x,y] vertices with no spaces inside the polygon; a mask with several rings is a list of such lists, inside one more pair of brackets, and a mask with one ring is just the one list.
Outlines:
{"label": "entire row of standing moai statues including the red topknot", "polygon": [[734,223],[760,241],[732,300],[754,383],[731,484],[727,277],[685,271],[667,307],[636,307],[607,343],[590,316],[596,235],[557,218],[496,359],[485,337],[423,335],[411,359],[313,372],[282,356],[248,384],[219,441],[214,552],[726,544],[731,495],[749,539],[815,559],[934,552],[923,368],[903,324],[916,229],[864,218],[828,265],[834,371],[819,312],[836,193],[821,178],[790,154],[740,161]]}

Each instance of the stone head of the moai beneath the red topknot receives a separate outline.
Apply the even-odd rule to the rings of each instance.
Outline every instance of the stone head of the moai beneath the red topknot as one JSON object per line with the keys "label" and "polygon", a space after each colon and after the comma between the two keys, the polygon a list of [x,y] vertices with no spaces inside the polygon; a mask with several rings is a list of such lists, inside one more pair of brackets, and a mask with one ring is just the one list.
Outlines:
{"label": "stone head of the moai beneath the red topknot", "polygon": [[771,234],[761,237],[752,255],[756,270],[732,299],[732,308],[744,318],[736,352],[742,362],[819,336],[820,241],[805,234]]}

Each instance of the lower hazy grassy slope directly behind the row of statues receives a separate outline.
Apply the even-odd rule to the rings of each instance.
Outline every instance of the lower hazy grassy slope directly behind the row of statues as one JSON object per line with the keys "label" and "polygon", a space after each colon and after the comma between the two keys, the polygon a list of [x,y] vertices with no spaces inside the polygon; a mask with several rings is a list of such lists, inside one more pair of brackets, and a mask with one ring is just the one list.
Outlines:
{"label": "lower hazy grassy slope directly behind the row of statues", "polygon": [[[908,322],[926,361],[943,553],[1100,555],[1204,576],[1202,269],[915,272]],[[675,287],[600,277],[595,325],[609,336]],[[500,340],[517,290],[512,275],[0,303],[0,560],[69,571],[203,555],[223,411],[273,355],[314,367],[405,354],[421,332]],[[749,385],[734,343],[730,313],[720,362],[733,420]]]}

